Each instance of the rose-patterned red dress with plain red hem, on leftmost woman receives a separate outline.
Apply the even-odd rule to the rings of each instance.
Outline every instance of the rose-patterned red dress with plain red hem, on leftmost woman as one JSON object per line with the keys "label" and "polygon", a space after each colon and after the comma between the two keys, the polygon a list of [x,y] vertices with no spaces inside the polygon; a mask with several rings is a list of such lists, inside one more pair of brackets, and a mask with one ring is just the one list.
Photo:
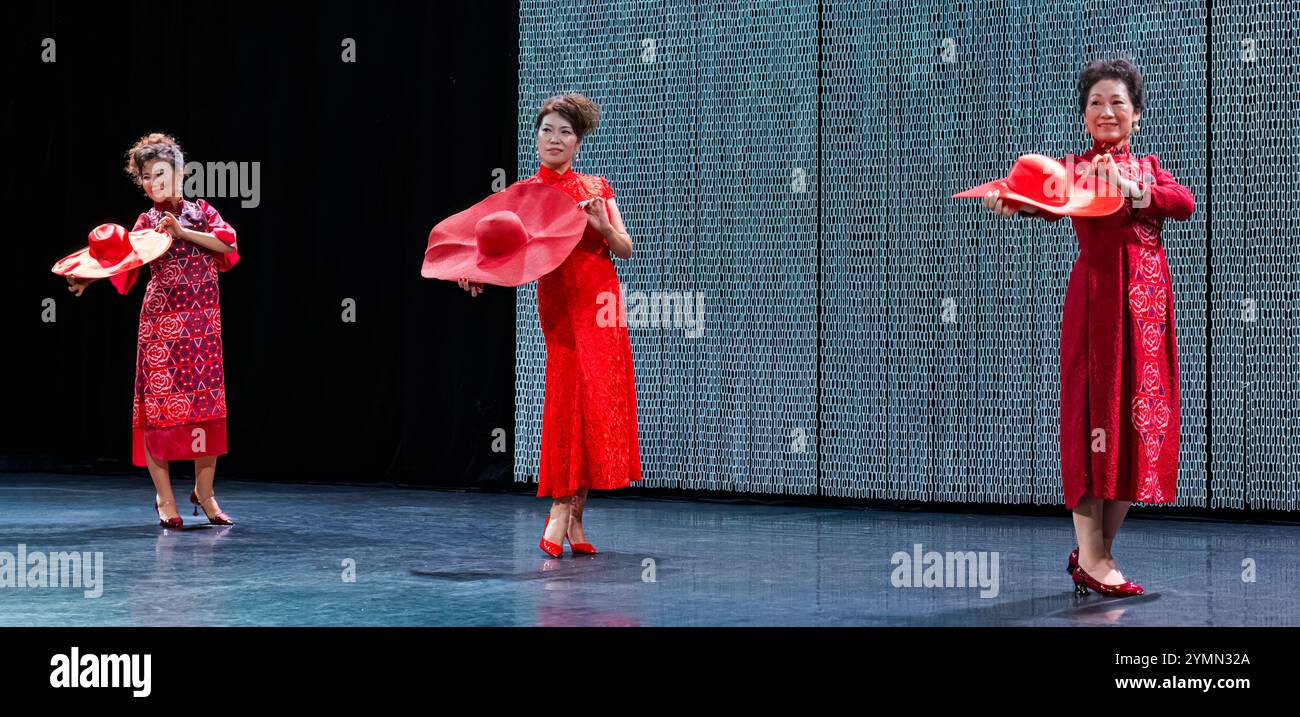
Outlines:
{"label": "rose-patterned red dress with plain red hem, on leftmost woman", "polygon": [[[235,230],[204,200],[179,207],[155,205],[135,220],[133,231],[150,229],[170,210],[185,229],[213,234],[235,245]],[[144,444],[156,461],[194,460],[226,452],[226,390],[221,364],[221,301],[217,273],[239,261],[176,239],[150,262],[150,283],[140,307],[131,404],[131,462],[144,461]],[[131,290],[139,270],[112,278],[117,291]]]}

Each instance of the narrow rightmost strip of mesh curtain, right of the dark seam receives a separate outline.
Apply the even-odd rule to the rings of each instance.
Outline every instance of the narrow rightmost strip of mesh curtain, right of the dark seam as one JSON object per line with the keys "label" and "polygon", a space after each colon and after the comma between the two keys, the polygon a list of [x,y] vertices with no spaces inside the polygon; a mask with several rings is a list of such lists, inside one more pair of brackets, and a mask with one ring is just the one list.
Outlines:
{"label": "narrow rightmost strip of mesh curtain, right of the dark seam", "polygon": [[1300,507],[1300,6],[1214,0],[1214,507]]}

